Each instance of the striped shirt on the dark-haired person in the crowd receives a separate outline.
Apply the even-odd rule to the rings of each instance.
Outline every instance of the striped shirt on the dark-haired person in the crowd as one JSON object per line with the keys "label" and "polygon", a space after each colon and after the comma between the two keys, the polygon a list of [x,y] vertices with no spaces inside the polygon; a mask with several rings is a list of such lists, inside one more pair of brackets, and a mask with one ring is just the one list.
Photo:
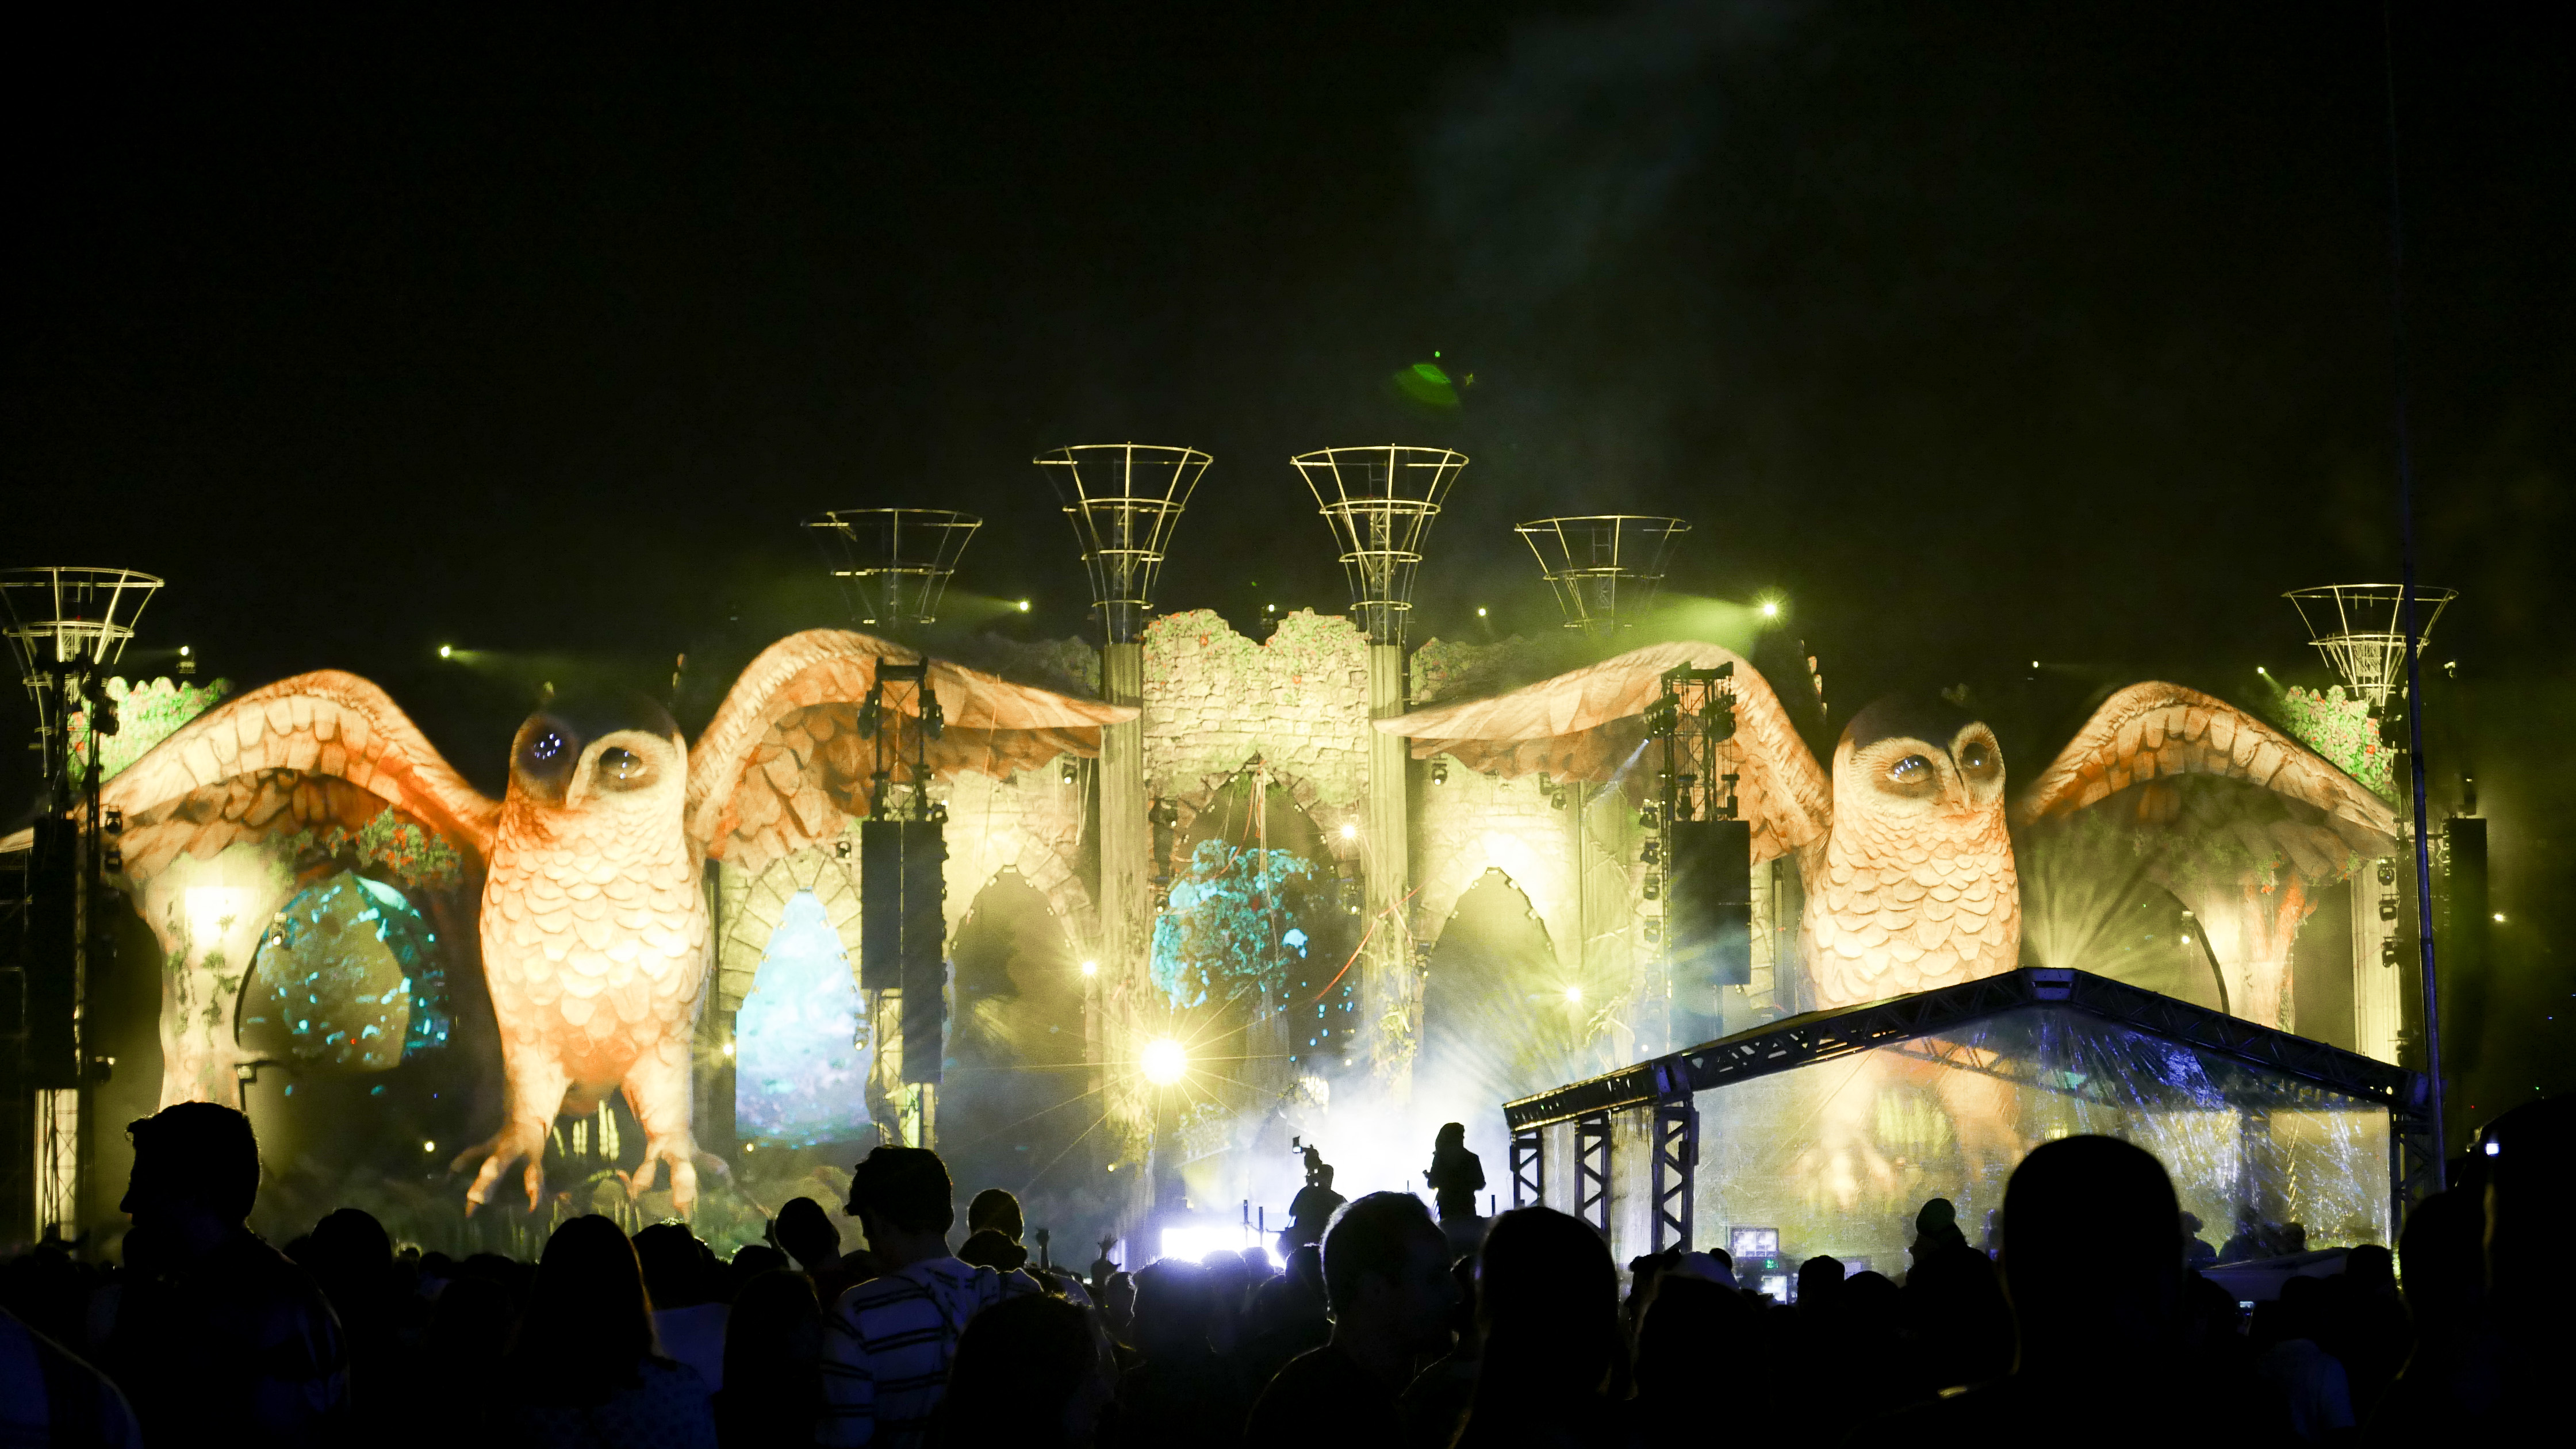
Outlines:
{"label": "striped shirt on the dark-haired person in the crowd", "polygon": [[1038,1281],[1018,1269],[930,1258],[840,1294],[824,1318],[817,1441],[917,1449],[948,1392],[966,1320],[1033,1292]]}

